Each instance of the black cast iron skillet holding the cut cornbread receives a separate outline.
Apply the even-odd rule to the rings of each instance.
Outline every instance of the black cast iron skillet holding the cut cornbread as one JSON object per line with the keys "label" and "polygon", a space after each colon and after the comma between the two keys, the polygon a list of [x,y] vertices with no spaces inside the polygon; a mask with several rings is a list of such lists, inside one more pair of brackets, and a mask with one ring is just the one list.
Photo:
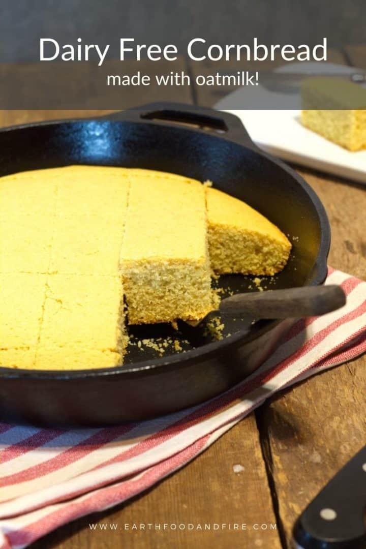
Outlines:
{"label": "black cast iron skillet holding the cut cornbread", "polygon": [[[261,152],[230,114],[152,104],[93,120],[30,124],[0,132],[0,175],[70,164],[142,167],[179,173],[245,200],[289,234],[284,271],[262,285],[321,284],[330,228],[317,195],[294,170]],[[148,189],[147,189],[148,192]],[[168,230],[168,228],[167,228]],[[253,277],[221,277],[227,292],[254,289]],[[86,319],[87,321],[87,319]],[[187,352],[130,346],[125,365],[85,371],[0,368],[0,417],[35,424],[101,425],[151,418],[198,404],[253,372],[293,321],[225,321],[220,341],[194,330]],[[131,328],[136,339],[172,335],[166,325]],[[133,338],[132,338],[133,339]],[[135,341],[136,341],[135,339]]]}

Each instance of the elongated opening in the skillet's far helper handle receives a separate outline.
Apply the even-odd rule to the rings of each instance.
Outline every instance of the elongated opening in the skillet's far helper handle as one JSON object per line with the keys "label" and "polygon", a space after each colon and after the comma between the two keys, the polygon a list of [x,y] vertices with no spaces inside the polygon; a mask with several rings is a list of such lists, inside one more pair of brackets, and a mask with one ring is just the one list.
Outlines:
{"label": "elongated opening in the skillet's far helper handle", "polygon": [[140,115],[143,120],[164,120],[184,126],[199,128],[200,130],[226,133],[228,127],[225,122],[216,116],[209,116],[194,112],[183,112],[172,109],[154,110]]}

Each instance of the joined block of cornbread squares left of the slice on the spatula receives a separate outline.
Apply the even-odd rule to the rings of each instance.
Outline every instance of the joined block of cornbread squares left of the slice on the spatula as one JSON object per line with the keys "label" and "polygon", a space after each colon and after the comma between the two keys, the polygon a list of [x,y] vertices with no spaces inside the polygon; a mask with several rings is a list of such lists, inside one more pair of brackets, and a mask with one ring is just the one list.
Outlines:
{"label": "joined block of cornbread squares left of the slice on the spatula", "polygon": [[2,366],[100,368],[122,361],[118,269],[128,187],[125,172],[108,167],[0,179]]}

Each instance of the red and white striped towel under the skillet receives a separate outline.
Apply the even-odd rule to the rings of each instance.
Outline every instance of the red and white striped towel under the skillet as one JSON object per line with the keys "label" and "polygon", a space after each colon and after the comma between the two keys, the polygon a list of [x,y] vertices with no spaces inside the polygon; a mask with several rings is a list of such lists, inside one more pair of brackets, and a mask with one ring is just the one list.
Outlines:
{"label": "red and white striped towel under the skillet", "polygon": [[268,396],[366,351],[366,282],[329,269],[326,283],[340,284],[347,304],[294,324],[260,369],[205,404],[100,429],[0,423],[0,549],[25,547],[61,524],[135,496]]}

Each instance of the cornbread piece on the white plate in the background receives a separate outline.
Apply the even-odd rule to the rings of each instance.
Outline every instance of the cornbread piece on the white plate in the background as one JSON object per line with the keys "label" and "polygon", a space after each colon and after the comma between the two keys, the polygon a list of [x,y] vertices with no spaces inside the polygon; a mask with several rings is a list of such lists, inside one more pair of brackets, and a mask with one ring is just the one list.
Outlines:
{"label": "cornbread piece on the white plate in the background", "polygon": [[366,90],[335,78],[309,78],[301,86],[301,122],[351,151],[366,148]]}

